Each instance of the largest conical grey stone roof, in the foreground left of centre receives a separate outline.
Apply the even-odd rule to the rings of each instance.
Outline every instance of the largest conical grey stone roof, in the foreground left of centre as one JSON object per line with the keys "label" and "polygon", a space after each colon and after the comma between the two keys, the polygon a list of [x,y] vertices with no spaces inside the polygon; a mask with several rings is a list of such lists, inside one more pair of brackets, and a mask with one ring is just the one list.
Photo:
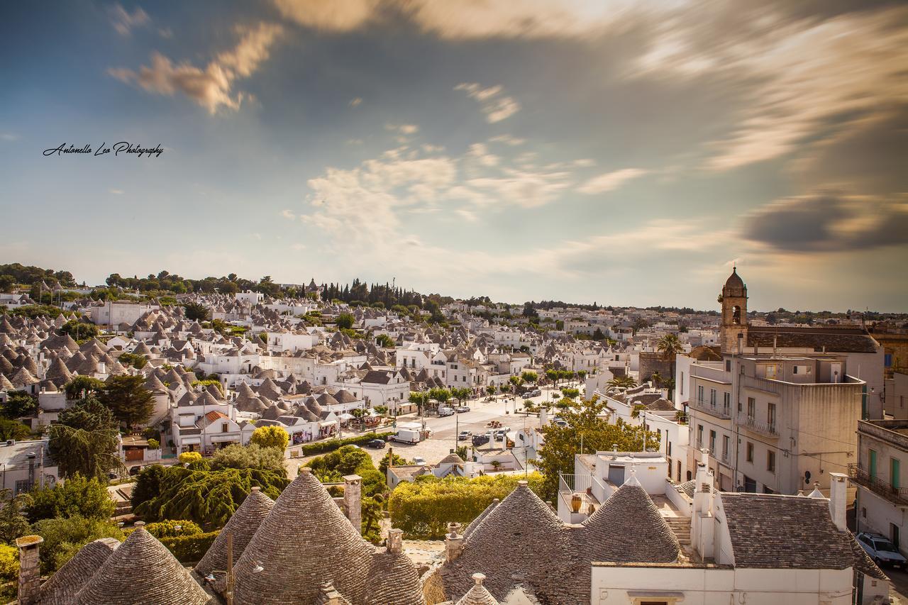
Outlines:
{"label": "largest conical grey stone roof, in the foreground left of centre", "polygon": [[[329,580],[361,602],[374,551],[321,482],[301,469],[233,568],[235,602],[308,604]],[[262,570],[255,573],[257,565]]]}

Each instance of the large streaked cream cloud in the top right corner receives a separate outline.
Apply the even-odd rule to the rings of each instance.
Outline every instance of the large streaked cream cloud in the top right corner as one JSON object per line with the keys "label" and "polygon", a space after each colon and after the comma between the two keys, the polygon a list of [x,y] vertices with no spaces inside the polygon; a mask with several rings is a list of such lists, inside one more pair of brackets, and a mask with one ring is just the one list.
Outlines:
{"label": "large streaked cream cloud in the top right corner", "polygon": [[807,18],[731,3],[676,11],[628,77],[710,78],[738,107],[707,145],[706,167],[729,170],[884,119],[908,102],[908,7]]}

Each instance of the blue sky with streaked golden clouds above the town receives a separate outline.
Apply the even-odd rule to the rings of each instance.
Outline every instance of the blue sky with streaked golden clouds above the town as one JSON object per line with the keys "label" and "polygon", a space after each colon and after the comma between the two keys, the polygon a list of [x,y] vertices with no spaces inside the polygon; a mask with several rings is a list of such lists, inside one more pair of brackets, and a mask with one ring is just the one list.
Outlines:
{"label": "blue sky with streaked golden clouds above the town", "polygon": [[905,312],[906,48],[873,1],[3,3],[0,263]]}

